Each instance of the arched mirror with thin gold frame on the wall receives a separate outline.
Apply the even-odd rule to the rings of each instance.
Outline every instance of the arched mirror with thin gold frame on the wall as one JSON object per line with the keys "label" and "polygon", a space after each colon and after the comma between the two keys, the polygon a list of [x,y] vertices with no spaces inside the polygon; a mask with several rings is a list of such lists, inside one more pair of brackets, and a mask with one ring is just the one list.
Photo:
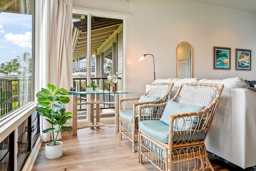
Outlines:
{"label": "arched mirror with thin gold frame on the wall", "polygon": [[192,78],[192,47],[187,42],[181,42],[176,50],[176,77]]}

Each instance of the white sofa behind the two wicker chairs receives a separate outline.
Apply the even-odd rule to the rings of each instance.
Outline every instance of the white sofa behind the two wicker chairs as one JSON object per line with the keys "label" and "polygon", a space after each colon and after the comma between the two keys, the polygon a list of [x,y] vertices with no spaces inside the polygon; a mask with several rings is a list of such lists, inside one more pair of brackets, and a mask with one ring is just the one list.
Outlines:
{"label": "white sofa behind the two wicker chairs", "polygon": [[[216,116],[206,138],[206,149],[243,169],[256,165],[256,92],[248,89],[243,78],[168,78],[157,79],[154,82],[173,82],[172,97],[180,83],[224,84]],[[149,86],[146,86],[146,90]]]}

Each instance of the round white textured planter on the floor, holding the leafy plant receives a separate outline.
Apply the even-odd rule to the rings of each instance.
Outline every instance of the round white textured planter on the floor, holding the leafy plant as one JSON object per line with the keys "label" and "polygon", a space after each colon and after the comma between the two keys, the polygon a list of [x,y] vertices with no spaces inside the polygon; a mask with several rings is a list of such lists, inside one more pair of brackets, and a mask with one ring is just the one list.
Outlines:
{"label": "round white textured planter on the floor, holding the leafy plant", "polygon": [[58,145],[49,146],[49,143],[45,144],[45,157],[46,159],[56,159],[62,156],[62,142],[56,141],[56,143],[60,143]]}

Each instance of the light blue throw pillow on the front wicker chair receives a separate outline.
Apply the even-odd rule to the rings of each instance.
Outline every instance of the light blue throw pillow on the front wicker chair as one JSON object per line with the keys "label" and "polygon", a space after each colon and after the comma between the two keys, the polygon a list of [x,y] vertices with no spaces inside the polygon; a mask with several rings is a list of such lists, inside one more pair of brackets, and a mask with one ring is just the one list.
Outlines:
{"label": "light blue throw pillow on the front wicker chair", "polygon": [[[180,113],[190,113],[190,112],[200,111],[202,109],[204,109],[204,106],[186,105],[186,104],[177,103],[175,101],[169,100],[168,103],[166,104],[164,113],[160,118],[160,121],[169,125],[170,115],[180,114]],[[193,121],[192,127],[190,127],[191,121]],[[179,131],[183,127],[184,128],[182,130],[194,129],[198,122],[198,116],[179,118],[176,122],[177,122],[176,124]],[[184,125],[184,122],[185,122],[185,125]],[[174,125],[174,128],[175,128],[175,125]],[[177,131],[177,129],[175,130]]]}

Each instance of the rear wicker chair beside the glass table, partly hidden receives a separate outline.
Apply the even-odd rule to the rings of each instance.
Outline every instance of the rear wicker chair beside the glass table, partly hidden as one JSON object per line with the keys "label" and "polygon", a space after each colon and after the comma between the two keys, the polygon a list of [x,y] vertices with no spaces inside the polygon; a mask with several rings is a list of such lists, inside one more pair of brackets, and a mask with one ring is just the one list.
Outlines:
{"label": "rear wicker chair beside the glass table, partly hidden", "polygon": [[[130,141],[132,141],[132,152],[135,152],[135,143],[138,143],[138,106],[168,101],[170,99],[172,86],[173,83],[152,83],[145,95],[130,99],[120,99],[119,139],[122,139],[122,135],[130,139]],[[150,108],[146,112],[153,113],[154,111],[156,110]]]}

